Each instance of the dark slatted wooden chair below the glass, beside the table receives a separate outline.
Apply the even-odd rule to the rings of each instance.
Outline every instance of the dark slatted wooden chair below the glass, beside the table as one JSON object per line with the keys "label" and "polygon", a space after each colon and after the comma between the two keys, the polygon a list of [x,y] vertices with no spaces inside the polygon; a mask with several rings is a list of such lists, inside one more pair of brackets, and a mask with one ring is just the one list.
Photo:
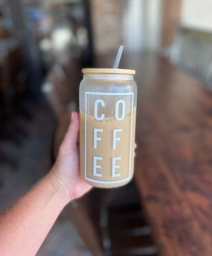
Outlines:
{"label": "dark slatted wooden chair below the glass, beside the table", "polygon": [[102,202],[100,224],[106,255],[157,256],[133,181],[108,190]]}

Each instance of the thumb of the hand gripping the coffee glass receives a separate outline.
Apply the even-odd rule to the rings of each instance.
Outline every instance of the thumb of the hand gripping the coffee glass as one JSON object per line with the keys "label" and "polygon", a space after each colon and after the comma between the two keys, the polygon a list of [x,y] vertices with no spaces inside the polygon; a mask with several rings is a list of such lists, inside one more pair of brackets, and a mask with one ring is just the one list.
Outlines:
{"label": "thumb of the hand gripping the coffee glass", "polygon": [[80,129],[79,114],[77,112],[71,113],[71,124],[65,135],[65,138],[60,146],[60,154],[67,155],[76,149],[77,139]]}

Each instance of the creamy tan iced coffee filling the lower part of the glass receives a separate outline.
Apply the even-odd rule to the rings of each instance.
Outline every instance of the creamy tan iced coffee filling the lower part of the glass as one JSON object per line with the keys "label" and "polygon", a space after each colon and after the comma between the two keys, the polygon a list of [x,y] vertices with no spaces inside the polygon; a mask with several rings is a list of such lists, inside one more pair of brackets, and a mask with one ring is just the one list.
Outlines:
{"label": "creamy tan iced coffee filling the lower part of the glass", "polygon": [[126,116],[122,110],[103,119],[100,111],[96,117],[80,111],[80,173],[93,186],[121,186],[132,178],[136,107]]}

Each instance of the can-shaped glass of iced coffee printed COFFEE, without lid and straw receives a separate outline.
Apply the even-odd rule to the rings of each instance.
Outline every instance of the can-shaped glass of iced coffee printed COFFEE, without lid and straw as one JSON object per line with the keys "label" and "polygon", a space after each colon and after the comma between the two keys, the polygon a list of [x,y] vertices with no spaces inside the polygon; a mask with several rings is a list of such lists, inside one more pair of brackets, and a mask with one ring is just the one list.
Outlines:
{"label": "can-shaped glass of iced coffee printed COFFEE, without lid and straw", "polygon": [[122,186],[131,180],[134,169],[134,70],[88,72],[84,78],[88,80],[80,85],[81,177],[96,187]]}

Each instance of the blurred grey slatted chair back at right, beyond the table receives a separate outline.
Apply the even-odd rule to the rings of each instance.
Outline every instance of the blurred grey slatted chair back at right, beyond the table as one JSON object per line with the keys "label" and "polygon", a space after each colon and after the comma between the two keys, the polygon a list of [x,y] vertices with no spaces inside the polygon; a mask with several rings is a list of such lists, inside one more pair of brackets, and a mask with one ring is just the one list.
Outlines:
{"label": "blurred grey slatted chair back at right, beyond the table", "polygon": [[212,34],[179,29],[171,60],[212,87]]}

